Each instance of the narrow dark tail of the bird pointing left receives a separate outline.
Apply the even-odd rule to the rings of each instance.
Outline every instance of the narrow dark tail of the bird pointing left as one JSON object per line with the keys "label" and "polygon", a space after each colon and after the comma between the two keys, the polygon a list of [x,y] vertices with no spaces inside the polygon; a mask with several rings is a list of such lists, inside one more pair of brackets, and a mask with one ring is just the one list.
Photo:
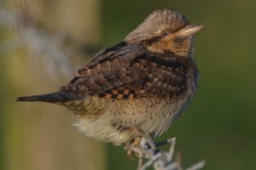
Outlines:
{"label": "narrow dark tail of the bird pointing left", "polygon": [[43,101],[43,102],[55,103],[55,102],[65,102],[65,101],[79,100],[79,99],[83,99],[83,96],[81,94],[73,94],[65,91],[59,91],[51,94],[19,97],[15,100],[16,101]]}

